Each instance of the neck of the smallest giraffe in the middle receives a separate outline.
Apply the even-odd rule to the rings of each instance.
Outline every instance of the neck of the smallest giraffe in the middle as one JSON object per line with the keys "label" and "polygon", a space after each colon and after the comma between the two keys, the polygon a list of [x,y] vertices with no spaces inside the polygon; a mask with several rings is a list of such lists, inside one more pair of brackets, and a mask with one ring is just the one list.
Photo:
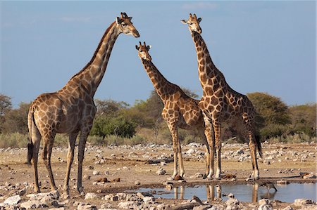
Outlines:
{"label": "neck of the smallest giraffe in the middle", "polygon": [[149,60],[143,60],[142,64],[144,66],[144,70],[147,72],[147,75],[149,76],[149,79],[151,79],[151,82],[156,90],[156,93],[160,96],[163,103],[165,103],[168,98],[170,98],[170,94],[172,94],[173,91],[173,84],[171,84],[159,70],[156,68],[156,66]]}

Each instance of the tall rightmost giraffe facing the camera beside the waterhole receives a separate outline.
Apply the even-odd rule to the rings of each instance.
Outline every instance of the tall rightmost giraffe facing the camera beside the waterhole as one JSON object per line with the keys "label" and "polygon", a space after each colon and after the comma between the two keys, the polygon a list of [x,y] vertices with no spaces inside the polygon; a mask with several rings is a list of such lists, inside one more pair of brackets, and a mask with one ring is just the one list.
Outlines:
{"label": "tall rightmost giraffe facing the camera beside the waterhole", "polygon": [[252,173],[250,178],[259,179],[259,169],[256,161],[256,149],[261,157],[261,143],[259,136],[255,136],[255,110],[247,96],[234,91],[225,81],[225,77],[213,64],[204,39],[201,37],[201,27],[196,14],[189,14],[188,20],[181,20],[187,24],[189,32],[195,44],[198,72],[203,96],[199,102],[199,107],[203,111],[204,119],[211,122],[215,136],[217,171],[216,179],[220,179],[221,163],[221,123],[228,122],[239,133],[249,140],[251,152]]}

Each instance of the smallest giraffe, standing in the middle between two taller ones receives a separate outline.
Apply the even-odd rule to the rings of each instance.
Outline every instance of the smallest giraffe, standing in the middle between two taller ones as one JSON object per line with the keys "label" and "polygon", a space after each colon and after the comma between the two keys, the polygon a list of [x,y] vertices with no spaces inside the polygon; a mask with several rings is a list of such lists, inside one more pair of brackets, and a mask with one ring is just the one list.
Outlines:
{"label": "smallest giraffe, standing in the middle between two taller ones", "polygon": [[197,129],[199,136],[206,146],[206,173],[204,178],[213,176],[213,136],[211,133],[211,124],[204,119],[201,110],[198,107],[199,100],[195,100],[187,96],[182,89],[170,83],[156,66],[151,62],[149,49],[151,46],[144,45],[139,42],[139,46],[135,46],[138,51],[139,58],[142,61],[144,70],[147,72],[149,79],[163,101],[164,107],[162,117],[165,119],[168,129],[172,134],[173,153],[174,153],[174,172],[172,178],[178,174],[178,162],[180,164],[180,176],[184,178],[184,164],[182,162],[182,150],[178,139],[178,128],[181,129]]}

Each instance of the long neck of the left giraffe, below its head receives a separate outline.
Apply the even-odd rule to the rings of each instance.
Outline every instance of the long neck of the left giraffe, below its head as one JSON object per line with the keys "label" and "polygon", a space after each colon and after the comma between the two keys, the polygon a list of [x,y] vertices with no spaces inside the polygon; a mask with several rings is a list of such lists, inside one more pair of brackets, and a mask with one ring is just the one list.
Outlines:
{"label": "long neck of the left giraffe, below its head", "polygon": [[119,34],[116,28],[116,22],[113,22],[108,29],[106,29],[92,59],[80,72],[75,74],[70,81],[68,81],[62,90],[67,88],[68,90],[70,89],[70,92],[75,91],[80,94],[80,96],[88,94],[93,97],[101,79],[104,77],[113,45]]}

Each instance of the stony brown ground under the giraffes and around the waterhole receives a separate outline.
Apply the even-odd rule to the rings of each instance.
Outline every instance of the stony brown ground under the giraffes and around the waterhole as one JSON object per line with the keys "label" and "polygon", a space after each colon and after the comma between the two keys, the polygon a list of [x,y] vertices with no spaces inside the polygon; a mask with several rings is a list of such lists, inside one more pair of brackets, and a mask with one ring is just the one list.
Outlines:
{"label": "stony brown ground under the giraffes and around the waterhole", "polygon": [[[259,158],[260,180],[256,183],[316,183],[316,143],[263,143]],[[234,195],[227,201],[219,198],[162,199],[138,188],[170,188],[212,183],[254,183],[246,178],[251,172],[247,144],[224,144],[221,181],[206,181],[204,146],[182,146],[185,181],[169,181],[173,173],[173,150],[170,145],[107,146],[87,145],[83,166],[85,196],[77,193],[77,162],[70,175],[70,199],[62,199],[66,173],[66,148],[55,147],[52,167],[58,192],[49,192],[49,178],[39,156],[40,194],[33,194],[33,170],[26,164],[26,149],[0,149],[0,209],[316,209],[316,199],[298,199],[292,203],[261,199],[240,202]]]}

